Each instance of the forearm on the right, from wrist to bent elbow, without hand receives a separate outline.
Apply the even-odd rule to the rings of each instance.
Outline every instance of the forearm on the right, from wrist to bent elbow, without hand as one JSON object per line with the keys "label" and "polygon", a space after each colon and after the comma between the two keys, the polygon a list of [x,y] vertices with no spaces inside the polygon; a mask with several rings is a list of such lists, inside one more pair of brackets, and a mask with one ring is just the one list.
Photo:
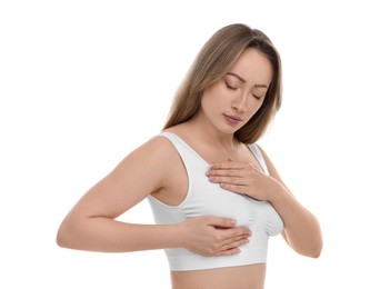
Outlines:
{"label": "forearm on the right, from wrist to bent elbow, without hand", "polygon": [[280,187],[271,202],[283,220],[284,238],[297,252],[319,257],[322,249],[319,221],[287,188]]}

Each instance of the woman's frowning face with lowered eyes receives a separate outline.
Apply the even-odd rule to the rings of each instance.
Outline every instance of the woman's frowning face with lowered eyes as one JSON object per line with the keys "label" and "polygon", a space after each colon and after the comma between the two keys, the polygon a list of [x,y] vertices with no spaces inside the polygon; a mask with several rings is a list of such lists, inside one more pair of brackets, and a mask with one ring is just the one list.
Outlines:
{"label": "woman's frowning face with lowered eyes", "polygon": [[234,133],[261,107],[272,76],[268,58],[246,49],[232,69],[203,91],[199,117],[221,132]]}

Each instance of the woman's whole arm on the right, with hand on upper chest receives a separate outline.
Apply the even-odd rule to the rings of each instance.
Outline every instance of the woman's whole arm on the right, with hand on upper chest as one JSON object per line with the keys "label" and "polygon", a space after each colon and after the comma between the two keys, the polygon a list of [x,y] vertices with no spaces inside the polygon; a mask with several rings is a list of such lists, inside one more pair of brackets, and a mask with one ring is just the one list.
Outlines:
{"label": "woman's whole arm on the right, with hand on upper chest", "polygon": [[273,163],[260,148],[269,176],[250,162],[212,163],[207,176],[222,188],[270,201],[284,223],[282,237],[300,255],[318,258],[322,250],[322,233],[318,219],[304,208],[281,180]]}

